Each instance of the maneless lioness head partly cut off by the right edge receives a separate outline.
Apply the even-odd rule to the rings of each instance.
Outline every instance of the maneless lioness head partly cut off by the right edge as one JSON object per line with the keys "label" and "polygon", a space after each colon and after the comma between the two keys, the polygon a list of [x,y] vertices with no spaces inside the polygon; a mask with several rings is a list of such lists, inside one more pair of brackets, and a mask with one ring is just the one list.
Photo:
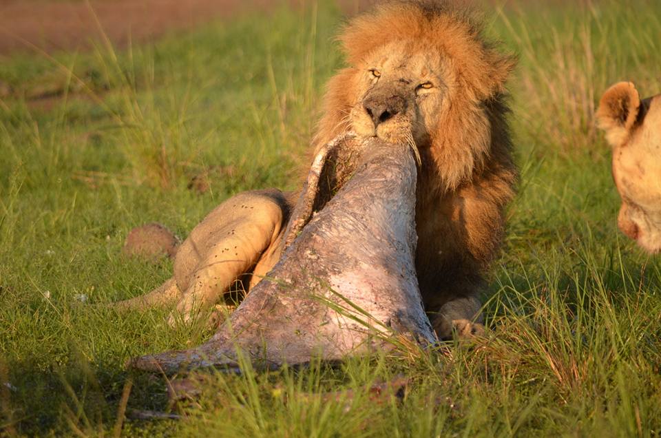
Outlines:
{"label": "maneless lioness head partly cut off by the right edge", "polygon": [[605,92],[598,125],[613,147],[622,198],[618,227],[649,253],[661,251],[661,94],[641,100],[631,82]]}

